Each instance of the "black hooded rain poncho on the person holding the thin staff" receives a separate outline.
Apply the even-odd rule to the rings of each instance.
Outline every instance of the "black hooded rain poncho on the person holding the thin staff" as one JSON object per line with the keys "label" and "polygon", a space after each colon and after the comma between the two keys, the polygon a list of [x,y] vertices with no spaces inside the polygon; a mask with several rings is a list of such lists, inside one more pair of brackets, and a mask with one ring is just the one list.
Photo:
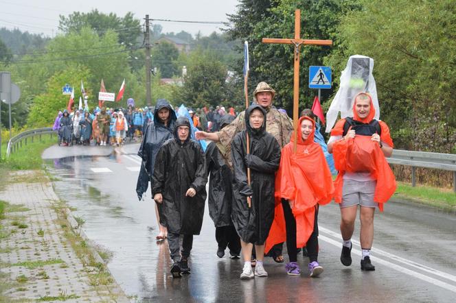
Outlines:
{"label": "black hooded rain poncho on the person holding the thin staff", "polygon": [[[258,130],[251,128],[249,117],[255,109],[264,114],[264,123]],[[245,112],[243,130],[231,143],[233,161],[233,210],[231,219],[242,241],[263,245],[274,219],[274,179],[280,164],[280,146],[266,132],[266,111],[254,104]],[[250,154],[247,155],[246,134],[250,137]],[[247,182],[247,165],[251,170],[251,186]],[[251,208],[247,196],[252,197]]]}

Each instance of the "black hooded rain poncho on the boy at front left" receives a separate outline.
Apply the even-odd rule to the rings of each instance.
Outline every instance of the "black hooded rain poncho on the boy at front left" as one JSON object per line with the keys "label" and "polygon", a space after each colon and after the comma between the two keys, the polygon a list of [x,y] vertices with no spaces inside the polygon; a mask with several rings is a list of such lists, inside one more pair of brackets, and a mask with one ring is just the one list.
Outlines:
{"label": "black hooded rain poncho on the boy at front left", "polygon": [[[199,234],[206,199],[205,158],[201,145],[190,139],[190,134],[181,143],[177,135],[177,128],[181,125],[190,128],[190,121],[179,117],[174,127],[174,138],[159,149],[152,175],[152,197],[156,193],[163,196],[159,215],[168,232]],[[196,190],[194,197],[185,196],[190,187]]]}

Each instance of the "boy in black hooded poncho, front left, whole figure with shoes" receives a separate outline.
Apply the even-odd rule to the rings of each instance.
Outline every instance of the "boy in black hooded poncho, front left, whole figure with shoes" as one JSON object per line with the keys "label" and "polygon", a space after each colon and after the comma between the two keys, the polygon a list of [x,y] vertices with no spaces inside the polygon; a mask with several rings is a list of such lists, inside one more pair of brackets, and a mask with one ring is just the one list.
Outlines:
{"label": "boy in black hooded poncho, front left, whole figure with shoes", "polygon": [[[171,274],[175,278],[181,272],[190,274],[187,260],[193,235],[200,233],[203,224],[206,183],[203,149],[190,138],[190,121],[179,117],[174,138],[159,149],[152,175],[152,195],[161,204],[161,215],[168,228],[168,245],[174,261]],[[179,253],[180,235],[183,241]]]}

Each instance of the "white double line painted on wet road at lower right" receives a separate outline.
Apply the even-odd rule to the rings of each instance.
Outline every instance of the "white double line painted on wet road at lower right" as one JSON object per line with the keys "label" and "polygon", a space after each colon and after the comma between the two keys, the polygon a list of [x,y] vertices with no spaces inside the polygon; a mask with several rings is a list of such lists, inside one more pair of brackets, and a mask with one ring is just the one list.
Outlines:
{"label": "white double line painted on wet road at lower right", "polygon": [[[323,233],[328,233],[328,234],[332,235],[333,237],[337,237],[339,239],[342,239],[340,234],[332,232],[332,230],[328,230],[327,228],[323,228],[323,227],[319,226],[319,231],[323,232]],[[330,243],[331,245],[334,245],[336,247],[341,247],[341,241],[336,241],[334,239],[330,239],[330,238],[328,238],[326,236],[323,236],[321,234],[319,234],[319,239],[321,239],[321,240],[323,240],[323,241],[325,241],[327,243]],[[355,245],[360,245],[358,241],[352,240],[352,243],[355,244]],[[400,263],[404,263],[406,265],[409,265],[410,267],[415,267],[417,269],[421,269],[422,271],[427,271],[427,272],[429,272],[431,274],[435,274],[437,276],[441,276],[442,278],[447,278],[448,280],[455,281],[455,278],[456,278],[455,276],[453,276],[451,274],[446,274],[443,271],[438,271],[436,269],[432,269],[431,267],[420,265],[420,264],[415,263],[415,262],[413,262],[411,260],[407,260],[405,258],[401,258],[401,257],[396,256],[394,254],[389,254],[387,252],[384,252],[383,250],[377,250],[377,249],[373,248],[372,252],[377,252],[380,255],[385,255],[388,258],[391,258],[391,259],[396,260],[396,261],[398,261]],[[352,254],[356,254],[356,256],[361,256],[361,252],[358,251],[358,250],[352,250]],[[442,287],[444,289],[448,289],[449,291],[453,291],[453,293],[456,293],[456,286],[454,286],[452,284],[448,284],[448,283],[443,282],[441,280],[437,280],[435,278],[431,278],[430,276],[426,276],[424,274],[420,274],[417,271],[413,271],[413,270],[408,269],[406,267],[402,267],[401,265],[398,265],[398,264],[395,264],[395,263],[391,263],[391,262],[389,262],[387,260],[383,260],[382,258],[379,258],[378,256],[371,256],[371,259],[373,261],[375,261],[376,263],[380,263],[382,265],[390,267],[391,269],[394,269],[396,271],[400,271],[402,274],[408,274],[409,276],[412,276],[414,278],[418,278],[418,279],[423,280],[425,282],[429,282],[429,283],[434,284],[434,285],[436,285],[438,287]]]}

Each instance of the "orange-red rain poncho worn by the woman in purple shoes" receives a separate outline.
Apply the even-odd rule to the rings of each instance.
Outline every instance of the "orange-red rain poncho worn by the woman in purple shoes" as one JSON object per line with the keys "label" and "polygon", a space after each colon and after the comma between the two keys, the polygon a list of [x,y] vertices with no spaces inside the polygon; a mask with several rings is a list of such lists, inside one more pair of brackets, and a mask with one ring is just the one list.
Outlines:
{"label": "orange-red rain poncho worn by the woman in purple shoes", "polygon": [[[292,212],[296,219],[297,247],[306,245],[314,229],[315,205],[328,204],[334,193],[331,172],[318,143],[314,142],[315,121],[301,117],[298,125],[307,119],[314,129],[306,141],[297,136],[297,151],[293,153],[293,138],[282,149],[280,167],[275,176],[275,217],[265,251],[273,245],[286,241],[284,210],[281,199],[293,200]],[[300,127],[300,126],[299,126]]]}

